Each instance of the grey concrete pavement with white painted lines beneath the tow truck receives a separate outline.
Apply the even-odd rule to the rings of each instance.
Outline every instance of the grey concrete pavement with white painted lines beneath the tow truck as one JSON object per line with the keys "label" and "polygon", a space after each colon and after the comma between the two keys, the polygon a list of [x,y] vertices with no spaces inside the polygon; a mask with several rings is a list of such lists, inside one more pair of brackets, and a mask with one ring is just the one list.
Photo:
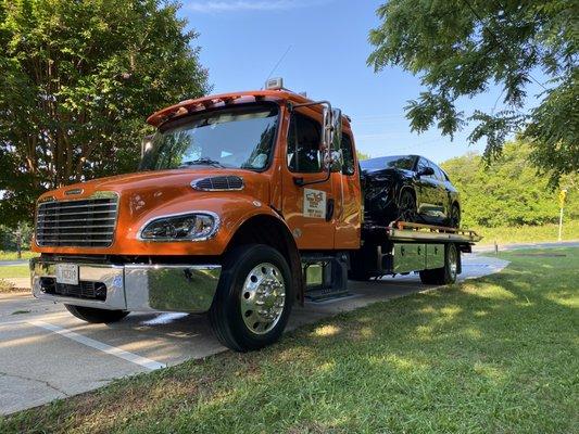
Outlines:
{"label": "grey concrete pavement with white painted lines beneath the tow truck", "polygon": [[[465,255],[460,278],[498,272],[506,265],[494,257]],[[421,285],[414,275],[350,284],[347,297],[297,306],[289,329],[433,289]],[[205,316],[131,314],[110,326],[87,324],[60,304],[36,301],[28,294],[0,294],[0,413],[223,350]]]}

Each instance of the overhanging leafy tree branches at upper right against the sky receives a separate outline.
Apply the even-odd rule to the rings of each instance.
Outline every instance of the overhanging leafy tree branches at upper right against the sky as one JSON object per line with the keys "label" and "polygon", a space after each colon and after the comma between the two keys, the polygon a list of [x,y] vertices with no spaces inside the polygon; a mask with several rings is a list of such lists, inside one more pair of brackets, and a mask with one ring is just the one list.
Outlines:
{"label": "overhanging leafy tree branches at upper right against the sky", "polygon": [[[410,101],[411,128],[433,124],[453,136],[475,125],[469,141],[487,140],[487,161],[505,140],[520,133],[532,148],[531,161],[551,176],[579,169],[579,3],[570,0],[390,0],[377,11],[381,25],[372,30],[368,64],[378,72],[401,66],[420,75],[426,90]],[[546,82],[534,78],[540,72]],[[536,81],[540,101],[524,112],[526,86]],[[461,97],[502,87],[503,110],[456,108]]]}

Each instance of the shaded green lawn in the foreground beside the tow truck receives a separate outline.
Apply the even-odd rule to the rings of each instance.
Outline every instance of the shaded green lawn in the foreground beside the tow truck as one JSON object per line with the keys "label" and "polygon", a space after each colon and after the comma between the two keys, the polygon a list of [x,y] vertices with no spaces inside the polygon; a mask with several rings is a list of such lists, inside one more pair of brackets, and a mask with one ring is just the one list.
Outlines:
{"label": "shaded green lawn in the foreground beside the tow truck", "polygon": [[577,433],[579,250],[501,257],[500,275],[115,381],[0,432]]}

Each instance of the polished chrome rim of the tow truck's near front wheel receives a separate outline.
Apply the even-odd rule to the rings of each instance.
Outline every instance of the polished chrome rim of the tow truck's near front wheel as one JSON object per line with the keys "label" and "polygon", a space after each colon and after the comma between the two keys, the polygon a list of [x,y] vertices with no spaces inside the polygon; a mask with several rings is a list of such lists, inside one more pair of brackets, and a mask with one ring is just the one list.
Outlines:
{"label": "polished chrome rim of the tow truck's near front wheel", "polygon": [[281,271],[270,263],[255,266],[241,290],[241,317],[255,334],[269,332],[281,318],[286,304],[286,283]]}

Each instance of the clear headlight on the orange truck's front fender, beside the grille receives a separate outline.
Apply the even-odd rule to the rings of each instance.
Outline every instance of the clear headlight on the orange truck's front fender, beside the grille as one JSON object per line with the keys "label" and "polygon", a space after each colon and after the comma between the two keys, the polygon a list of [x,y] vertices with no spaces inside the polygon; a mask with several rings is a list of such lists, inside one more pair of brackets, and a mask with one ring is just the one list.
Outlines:
{"label": "clear headlight on the orange truck's front fender, beside the grille", "polygon": [[192,213],[160,217],[149,221],[139,239],[144,241],[202,241],[212,237],[218,227],[214,214]]}

